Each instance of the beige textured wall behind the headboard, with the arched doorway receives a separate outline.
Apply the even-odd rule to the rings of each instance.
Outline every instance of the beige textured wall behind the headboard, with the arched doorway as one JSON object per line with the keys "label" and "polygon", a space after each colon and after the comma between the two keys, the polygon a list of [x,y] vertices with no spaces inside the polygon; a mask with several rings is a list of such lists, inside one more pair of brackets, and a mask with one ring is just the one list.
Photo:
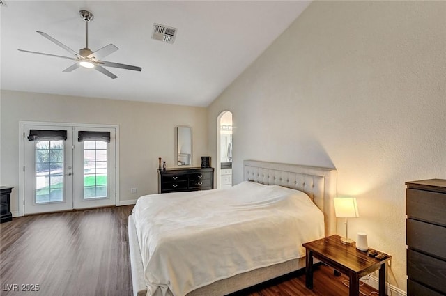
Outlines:
{"label": "beige textured wall behind the headboard, with the arched doorway", "polygon": [[401,290],[404,182],[446,178],[445,15],[444,1],[315,1],[208,113],[215,151],[233,112],[234,183],[243,159],[335,167],[360,210],[349,233],[392,254]]}

